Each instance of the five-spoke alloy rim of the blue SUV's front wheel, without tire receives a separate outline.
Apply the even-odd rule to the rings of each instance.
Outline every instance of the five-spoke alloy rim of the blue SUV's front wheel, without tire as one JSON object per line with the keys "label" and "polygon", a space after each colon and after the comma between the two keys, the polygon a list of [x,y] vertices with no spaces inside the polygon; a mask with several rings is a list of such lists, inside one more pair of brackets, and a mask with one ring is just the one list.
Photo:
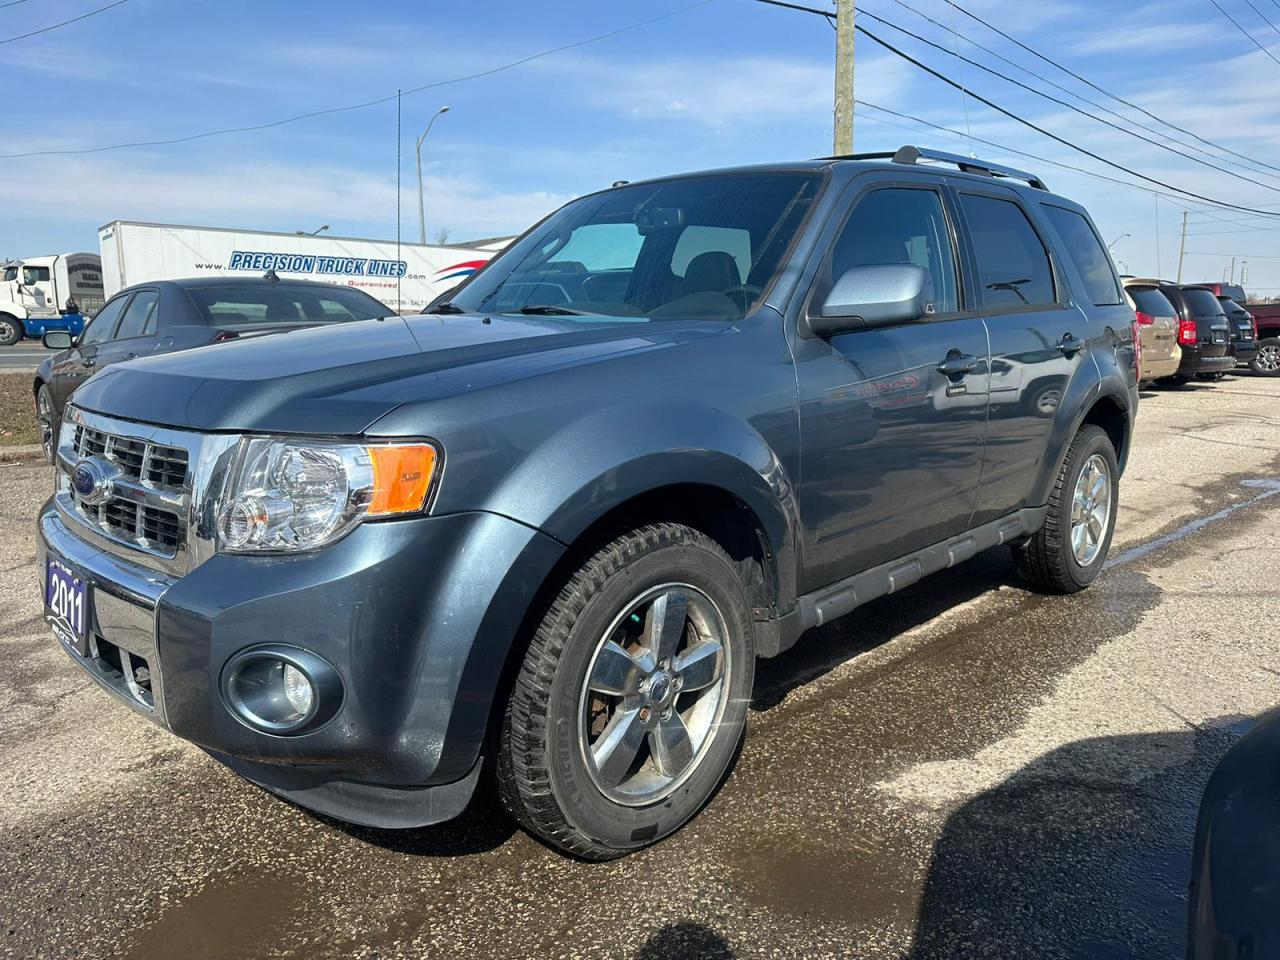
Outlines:
{"label": "five-spoke alloy rim of the blue SUV's front wheel, without tire", "polygon": [[605,797],[653,804],[698,768],[727,700],[726,640],[724,617],[689,584],[646,590],[613,621],[579,704],[582,759]]}

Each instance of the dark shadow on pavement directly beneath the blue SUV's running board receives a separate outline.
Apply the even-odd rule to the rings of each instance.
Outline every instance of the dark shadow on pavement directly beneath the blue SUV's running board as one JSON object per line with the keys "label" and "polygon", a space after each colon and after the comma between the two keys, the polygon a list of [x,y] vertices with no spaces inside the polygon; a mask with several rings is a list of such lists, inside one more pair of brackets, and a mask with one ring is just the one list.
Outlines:
{"label": "dark shadow on pavement directly beneath the blue SUV's running board", "polygon": [[781,657],[758,660],[751,709],[772,709],[796,687],[850,658],[873,650],[989,590],[1012,585],[1025,588],[1009,550],[997,548],[933,573],[896,594],[872,600],[810,631]]}

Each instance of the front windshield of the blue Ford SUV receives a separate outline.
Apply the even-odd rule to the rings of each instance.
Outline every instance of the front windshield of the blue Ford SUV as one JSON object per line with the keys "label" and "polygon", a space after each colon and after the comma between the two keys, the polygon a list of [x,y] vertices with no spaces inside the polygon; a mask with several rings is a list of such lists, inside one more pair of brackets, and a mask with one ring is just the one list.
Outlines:
{"label": "front windshield of the blue Ford SUV", "polygon": [[721,174],[584,197],[477,274],[452,308],[740,320],[778,271],[819,186],[814,174]]}

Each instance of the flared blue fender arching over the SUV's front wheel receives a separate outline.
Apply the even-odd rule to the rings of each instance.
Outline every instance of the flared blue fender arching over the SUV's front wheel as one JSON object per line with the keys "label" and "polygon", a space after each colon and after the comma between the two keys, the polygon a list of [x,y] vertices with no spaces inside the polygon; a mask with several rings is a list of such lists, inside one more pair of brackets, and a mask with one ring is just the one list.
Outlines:
{"label": "flared blue fender arching over the SUV's front wheel", "polygon": [[778,605],[790,608],[799,520],[791,477],[753,425],[714,407],[586,413],[540,443],[484,508],[568,544],[613,508],[676,484],[723,490],[751,509],[776,558]]}

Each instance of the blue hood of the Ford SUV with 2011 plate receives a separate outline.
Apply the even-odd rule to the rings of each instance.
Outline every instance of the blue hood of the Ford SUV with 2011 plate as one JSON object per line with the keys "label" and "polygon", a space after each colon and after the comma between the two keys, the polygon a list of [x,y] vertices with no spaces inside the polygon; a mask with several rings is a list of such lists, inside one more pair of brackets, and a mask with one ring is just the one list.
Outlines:
{"label": "blue hood of the Ford SUV with 2011 plate", "polygon": [[210,431],[356,435],[410,401],[727,329],[705,320],[411,316],[253,337],[110,366],[72,402],[143,422]]}

